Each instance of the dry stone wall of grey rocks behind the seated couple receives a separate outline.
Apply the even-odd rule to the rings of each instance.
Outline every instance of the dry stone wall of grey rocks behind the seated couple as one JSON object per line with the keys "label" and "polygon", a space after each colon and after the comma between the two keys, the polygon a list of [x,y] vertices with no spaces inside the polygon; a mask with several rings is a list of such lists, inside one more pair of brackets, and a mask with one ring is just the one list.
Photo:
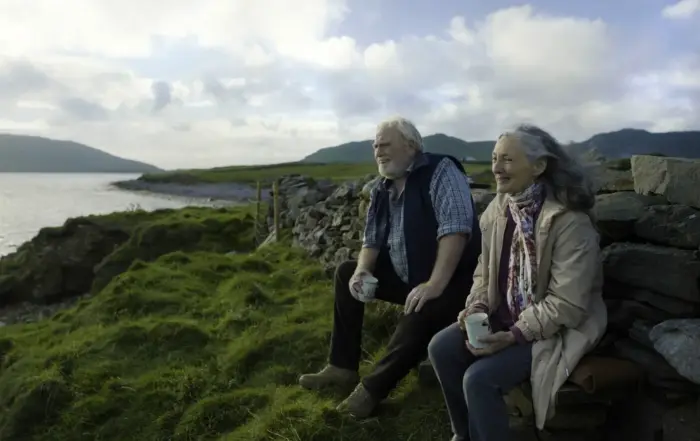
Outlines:
{"label": "dry stone wall of grey rocks behind the seated couple", "polygon": [[[612,172],[594,210],[609,314],[598,350],[631,360],[645,373],[645,397],[655,404],[639,410],[630,423],[636,430],[646,427],[652,436],[663,424],[667,433],[690,433],[694,429],[672,415],[700,420],[700,162],[638,156],[631,164],[626,173],[635,191],[615,191],[615,182],[625,179]],[[301,176],[282,180],[283,225],[329,272],[357,256],[375,179],[339,185]],[[494,195],[474,194],[481,213]],[[700,433],[687,439],[700,440]]]}

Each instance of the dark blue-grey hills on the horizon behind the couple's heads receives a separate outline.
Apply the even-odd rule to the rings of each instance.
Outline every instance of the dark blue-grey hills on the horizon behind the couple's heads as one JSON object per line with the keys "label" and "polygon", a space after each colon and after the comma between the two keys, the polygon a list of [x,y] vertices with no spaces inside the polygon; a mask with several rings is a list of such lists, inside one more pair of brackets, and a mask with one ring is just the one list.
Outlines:
{"label": "dark blue-grey hills on the horizon behind the couple's heads", "polygon": [[[464,141],[442,133],[423,138],[428,152],[449,154],[459,159],[489,161],[495,141]],[[574,148],[595,149],[606,158],[626,158],[632,155],[661,153],[666,156],[700,158],[700,131],[651,133],[645,130],[622,129],[601,133]],[[302,159],[302,162],[371,162],[372,141],[354,141],[326,147]]]}

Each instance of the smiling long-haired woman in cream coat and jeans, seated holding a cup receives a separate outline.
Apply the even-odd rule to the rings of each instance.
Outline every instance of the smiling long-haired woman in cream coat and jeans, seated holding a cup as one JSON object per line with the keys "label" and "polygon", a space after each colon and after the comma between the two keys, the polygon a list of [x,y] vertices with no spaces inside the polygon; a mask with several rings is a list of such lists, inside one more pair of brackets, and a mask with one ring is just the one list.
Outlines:
{"label": "smiling long-haired woman in cream coat and jeans, seated holding a cup", "polygon": [[[492,170],[498,194],[480,220],[466,307],[428,347],[453,441],[513,439],[503,395],[528,379],[542,429],[557,390],[607,324],[584,169],[547,132],[521,125],[498,138]],[[478,312],[492,333],[472,345],[462,323]]]}

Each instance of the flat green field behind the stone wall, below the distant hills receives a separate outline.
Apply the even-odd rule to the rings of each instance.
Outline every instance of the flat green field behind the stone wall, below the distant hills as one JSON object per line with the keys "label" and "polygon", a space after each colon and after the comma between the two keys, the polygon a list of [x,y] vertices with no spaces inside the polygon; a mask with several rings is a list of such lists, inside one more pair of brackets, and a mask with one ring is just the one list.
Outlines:
{"label": "flat green field behind the stone wall, below the distant hills", "polygon": [[[490,164],[464,164],[470,174],[490,170]],[[167,182],[178,184],[239,182],[254,184],[258,181],[269,183],[283,175],[301,174],[314,179],[347,181],[377,173],[374,163],[367,164],[306,164],[286,163],[256,166],[219,167],[212,169],[177,170],[164,173],[147,173],[139,179],[146,182]],[[490,180],[490,172],[487,176]]]}

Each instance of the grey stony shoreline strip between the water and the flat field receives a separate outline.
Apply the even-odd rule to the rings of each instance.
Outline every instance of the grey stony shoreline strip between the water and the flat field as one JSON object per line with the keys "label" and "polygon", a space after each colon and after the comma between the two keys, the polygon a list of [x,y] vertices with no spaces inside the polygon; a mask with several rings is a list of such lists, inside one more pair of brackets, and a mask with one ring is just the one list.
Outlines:
{"label": "grey stony shoreline strip between the water and the flat field", "polygon": [[[158,195],[202,199],[208,202],[226,201],[229,203],[255,202],[257,190],[250,185],[236,182],[176,184],[168,182],[145,182],[138,179],[114,181],[110,185],[119,190],[153,193]],[[266,200],[268,192],[262,192]]]}

